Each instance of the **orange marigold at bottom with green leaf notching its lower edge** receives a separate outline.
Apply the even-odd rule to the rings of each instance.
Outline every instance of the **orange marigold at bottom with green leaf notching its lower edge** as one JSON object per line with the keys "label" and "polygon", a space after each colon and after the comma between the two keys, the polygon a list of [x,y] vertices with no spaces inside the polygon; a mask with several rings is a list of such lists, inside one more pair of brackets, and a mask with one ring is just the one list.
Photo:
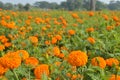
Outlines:
{"label": "orange marigold at bottom with green leaf notching its lower edge", "polygon": [[49,75],[49,66],[47,64],[41,64],[34,70],[34,75],[37,79],[41,79],[43,74]]}

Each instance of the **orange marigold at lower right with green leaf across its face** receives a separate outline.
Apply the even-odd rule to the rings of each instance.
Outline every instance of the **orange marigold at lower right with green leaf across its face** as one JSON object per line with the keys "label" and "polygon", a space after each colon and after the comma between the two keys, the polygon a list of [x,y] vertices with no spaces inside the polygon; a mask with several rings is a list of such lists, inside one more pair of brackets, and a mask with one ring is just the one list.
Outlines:
{"label": "orange marigold at lower right with green leaf across its face", "polygon": [[105,62],[104,58],[102,58],[102,57],[94,57],[91,60],[91,63],[93,66],[99,66],[100,68],[106,67],[106,62]]}

